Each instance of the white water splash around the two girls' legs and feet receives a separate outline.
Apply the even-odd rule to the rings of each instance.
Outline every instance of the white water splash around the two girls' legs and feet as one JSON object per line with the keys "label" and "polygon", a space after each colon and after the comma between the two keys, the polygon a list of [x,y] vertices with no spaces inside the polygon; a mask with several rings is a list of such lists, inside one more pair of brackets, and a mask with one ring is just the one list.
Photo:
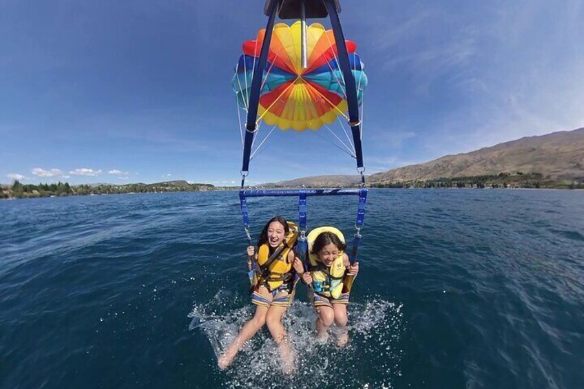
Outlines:
{"label": "white water splash around the two girls' legs and feet", "polygon": [[[207,304],[194,306],[189,329],[205,334],[216,357],[229,347],[238,330],[253,315],[253,306],[231,311],[220,302],[220,291]],[[306,302],[293,302],[282,323],[295,353],[295,372],[284,375],[278,346],[267,329],[260,330],[225,372],[225,388],[393,388],[401,375],[402,352],[399,339],[404,332],[402,306],[379,297],[366,298],[365,304],[348,306],[350,340],[344,348],[336,345],[339,330],[331,328],[328,339],[315,335],[316,314]],[[223,311],[222,311],[223,308]],[[355,374],[370,371],[371,375]],[[375,381],[364,381],[376,377]]]}

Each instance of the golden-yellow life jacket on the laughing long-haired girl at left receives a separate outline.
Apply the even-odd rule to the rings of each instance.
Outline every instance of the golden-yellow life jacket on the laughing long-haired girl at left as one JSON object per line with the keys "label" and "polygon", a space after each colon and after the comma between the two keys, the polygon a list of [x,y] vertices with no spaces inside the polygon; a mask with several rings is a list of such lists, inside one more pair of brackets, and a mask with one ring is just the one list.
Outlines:
{"label": "golden-yellow life jacket on the laughing long-haired girl at left", "polygon": [[[264,243],[258,249],[258,265],[255,269],[255,280],[252,284],[255,287],[266,285],[270,291],[274,291],[284,282],[292,278],[292,263],[288,262],[288,254],[296,244],[298,238],[298,227],[293,222],[288,222],[289,231],[280,247],[276,248],[270,256],[270,246]],[[259,269],[258,269],[259,268]]]}

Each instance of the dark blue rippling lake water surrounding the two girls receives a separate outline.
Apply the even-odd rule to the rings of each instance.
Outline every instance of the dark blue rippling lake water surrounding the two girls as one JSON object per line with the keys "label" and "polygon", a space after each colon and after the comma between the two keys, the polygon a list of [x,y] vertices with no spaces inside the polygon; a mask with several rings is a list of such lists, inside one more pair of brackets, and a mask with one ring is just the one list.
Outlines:
{"label": "dark blue rippling lake water surrounding the two girls", "polygon": [[[249,200],[254,239],[293,198]],[[251,315],[237,192],[0,202],[0,388],[582,388],[584,191],[377,189],[344,349],[284,324],[227,371]],[[354,233],[357,198],[309,198]],[[350,240],[350,239],[349,239]]]}

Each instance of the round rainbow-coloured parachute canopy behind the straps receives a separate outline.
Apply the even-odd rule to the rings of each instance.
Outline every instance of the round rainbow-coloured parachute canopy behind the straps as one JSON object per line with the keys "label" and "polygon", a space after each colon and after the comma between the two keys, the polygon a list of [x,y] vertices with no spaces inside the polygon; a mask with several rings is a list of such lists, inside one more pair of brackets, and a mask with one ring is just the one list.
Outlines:
{"label": "round rainbow-coloured parachute canopy behind the straps", "polygon": [[[342,72],[337,60],[337,47],[332,30],[320,23],[306,27],[307,67],[301,63],[301,23],[274,26],[268,62],[265,67],[258,121],[296,131],[318,129],[335,121],[347,111]],[[238,103],[247,109],[251,79],[260,57],[265,30],[258,32],[255,41],[243,45],[244,54],[236,65],[233,90]],[[357,99],[361,105],[367,76],[363,63],[355,53],[355,43],[346,41],[351,70],[357,84]]]}

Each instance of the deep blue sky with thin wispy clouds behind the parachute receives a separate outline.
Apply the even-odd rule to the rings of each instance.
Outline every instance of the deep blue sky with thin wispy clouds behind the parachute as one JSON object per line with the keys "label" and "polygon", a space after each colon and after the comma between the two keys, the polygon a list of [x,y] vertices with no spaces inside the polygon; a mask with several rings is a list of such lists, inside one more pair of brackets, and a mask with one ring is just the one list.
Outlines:
{"label": "deep blue sky with thin wispy clouds behind the parachute", "polygon": [[[583,1],[341,3],[367,174],[584,127]],[[238,184],[231,77],[263,6],[0,0],[0,182]],[[266,145],[250,184],[355,174],[322,132]]]}

